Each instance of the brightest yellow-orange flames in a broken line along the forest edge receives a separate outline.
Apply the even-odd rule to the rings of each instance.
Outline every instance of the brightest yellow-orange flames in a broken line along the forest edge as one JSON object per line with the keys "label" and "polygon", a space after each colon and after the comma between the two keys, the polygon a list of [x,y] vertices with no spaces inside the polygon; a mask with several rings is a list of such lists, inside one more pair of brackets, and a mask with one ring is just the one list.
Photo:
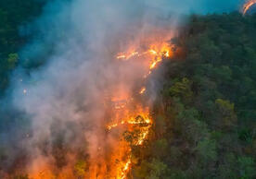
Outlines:
{"label": "brightest yellow-orange flames in a broken line along the forest edge", "polygon": [[[171,47],[166,42],[162,42],[160,44],[150,45],[146,51],[137,49],[130,53],[118,54],[116,58],[124,61],[142,60],[142,62],[146,62],[147,71],[145,71],[146,74],[142,77],[142,80],[145,80],[163,58],[171,57],[171,55]],[[146,87],[142,87],[139,94],[144,94],[146,90]],[[141,104],[134,103],[133,100],[118,99],[120,100],[113,101],[115,106],[114,109],[116,110],[114,111],[115,117],[111,119],[111,122],[106,128],[109,132],[114,129],[118,130],[125,128],[126,132],[124,131],[124,134],[128,136],[128,141],[121,143],[120,146],[120,151],[123,155],[122,157],[118,156],[119,158],[124,158],[126,160],[120,162],[119,166],[116,166],[117,174],[115,176],[117,179],[124,179],[127,177],[127,173],[129,173],[132,166],[131,145],[143,145],[149,135],[153,121],[149,116],[148,108],[143,108]]]}

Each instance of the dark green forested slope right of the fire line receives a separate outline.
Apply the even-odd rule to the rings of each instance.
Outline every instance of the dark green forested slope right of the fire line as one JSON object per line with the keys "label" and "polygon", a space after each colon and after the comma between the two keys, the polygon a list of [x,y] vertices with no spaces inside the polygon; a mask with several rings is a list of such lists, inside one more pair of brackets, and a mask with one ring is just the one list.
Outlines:
{"label": "dark green forested slope right of the fire line", "polygon": [[158,178],[256,178],[255,24],[256,15],[194,15],[180,30],[156,141],[134,170],[157,158],[167,166]]}

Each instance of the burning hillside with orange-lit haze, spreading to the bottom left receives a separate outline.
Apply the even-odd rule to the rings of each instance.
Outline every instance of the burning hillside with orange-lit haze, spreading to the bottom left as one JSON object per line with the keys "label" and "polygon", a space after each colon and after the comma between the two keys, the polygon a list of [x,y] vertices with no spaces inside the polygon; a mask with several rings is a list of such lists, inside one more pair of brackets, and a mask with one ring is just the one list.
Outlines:
{"label": "burning hillside with orange-lit haze, spreading to the bottom left", "polygon": [[[88,149],[82,151],[88,152],[83,160],[77,161],[77,151],[63,154],[69,164],[61,169],[52,161],[34,161],[36,167],[33,169],[30,166],[28,169],[30,178],[124,179],[129,176],[136,164],[133,148],[143,147],[152,134],[154,121],[150,114],[147,80],[163,59],[173,56],[173,46],[167,41],[169,37],[158,37],[160,42],[153,38],[154,41],[147,41],[143,45],[128,47],[125,52],[111,58],[110,65],[115,66],[111,69],[120,69],[115,72],[120,78],[108,79],[109,83],[105,84],[103,92],[104,102],[99,104],[104,114],[101,124],[94,130],[97,131],[96,137],[101,137],[101,142],[96,142],[90,136],[92,141],[88,141]],[[140,69],[136,70],[139,73],[131,73],[133,66]],[[128,84],[127,76],[135,83]]]}

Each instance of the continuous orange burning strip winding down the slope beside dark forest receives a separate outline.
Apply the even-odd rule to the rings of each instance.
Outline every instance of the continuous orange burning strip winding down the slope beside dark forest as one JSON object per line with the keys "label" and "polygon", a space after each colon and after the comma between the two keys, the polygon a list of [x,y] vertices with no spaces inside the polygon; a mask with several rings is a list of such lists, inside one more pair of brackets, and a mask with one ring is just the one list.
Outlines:
{"label": "continuous orange burning strip winding down the slope beside dark forest", "polygon": [[140,90],[132,91],[132,95],[122,92],[121,96],[111,92],[110,97],[106,99],[106,132],[113,137],[116,145],[109,151],[108,160],[103,163],[93,161],[89,164],[88,175],[86,174],[85,178],[127,178],[133,165],[132,147],[143,145],[154,123],[149,113],[148,101],[142,100],[147,91],[145,85],[148,75],[163,58],[170,58],[171,55],[171,46],[167,42],[158,42],[145,52],[138,49],[116,56],[116,60],[121,60],[121,63],[140,61],[139,63],[145,67],[145,72],[143,76],[138,77],[140,83],[135,87]]}

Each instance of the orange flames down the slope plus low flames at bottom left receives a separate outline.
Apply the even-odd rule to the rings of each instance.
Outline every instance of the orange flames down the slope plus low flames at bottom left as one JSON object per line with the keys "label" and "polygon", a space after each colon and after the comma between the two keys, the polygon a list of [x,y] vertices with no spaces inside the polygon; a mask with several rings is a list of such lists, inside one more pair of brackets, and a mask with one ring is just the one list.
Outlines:
{"label": "orange flames down the slope plus low flames at bottom left", "polygon": [[[169,37],[167,38],[169,39]],[[129,63],[133,64],[132,62],[134,62],[136,66],[141,67],[141,77],[139,77],[139,82],[134,88],[136,90],[140,89],[140,91],[116,90],[115,87],[108,92],[104,91],[104,98],[105,95],[106,98],[103,103],[106,108],[107,117],[104,121],[105,124],[102,125],[103,129],[101,130],[104,130],[105,134],[103,136],[106,138],[109,137],[110,141],[106,140],[104,141],[106,143],[102,142],[102,144],[96,144],[97,152],[95,156],[92,156],[86,161],[88,162],[88,169],[83,178],[127,178],[133,166],[132,147],[142,146],[147,141],[154,122],[150,116],[148,104],[137,101],[136,98],[142,98],[144,96],[142,94],[147,90],[145,87],[147,78],[159,63],[162,62],[163,59],[173,56],[172,46],[170,46],[168,42],[161,41],[162,39],[158,37],[153,39],[155,40],[147,42],[143,47],[132,46],[129,47],[128,50],[114,55],[114,62],[117,61],[117,64],[121,66],[129,65]],[[119,84],[117,84],[117,86],[118,85]],[[128,135],[128,137],[125,135]],[[131,140],[129,139],[129,135],[132,136]],[[70,166],[72,166],[72,164],[70,164]],[[32,176],[33,179],[54,178],[54,175],[50,173],[52,171],[55,170],[42,170],[41,168],[41,171],[37,171],[35,174],[32,173],[30,176]],[[65,173],[62,173],[62,175],[66,176]],[[58,175],[57,178],[72,179],[76,177],[73,175],[69,175],[69,177],[59,177]]]}

